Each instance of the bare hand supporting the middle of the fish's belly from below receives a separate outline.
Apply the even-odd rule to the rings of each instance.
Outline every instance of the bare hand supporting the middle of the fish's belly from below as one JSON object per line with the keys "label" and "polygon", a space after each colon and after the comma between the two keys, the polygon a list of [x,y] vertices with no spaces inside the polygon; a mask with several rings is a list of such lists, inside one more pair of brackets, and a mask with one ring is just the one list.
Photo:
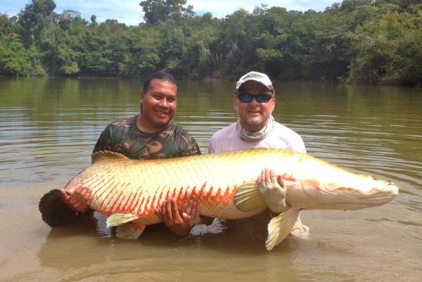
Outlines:
{"label": "bare hand supporting the middle of the fish's belly from below", "polygon": [[198,203],[190,200],[181,209],[177,207],[176,200],[164,200],[160,210],[155,214],[177,236],[186,236],[193,226],[193,222],[199,217],[200,208]]}

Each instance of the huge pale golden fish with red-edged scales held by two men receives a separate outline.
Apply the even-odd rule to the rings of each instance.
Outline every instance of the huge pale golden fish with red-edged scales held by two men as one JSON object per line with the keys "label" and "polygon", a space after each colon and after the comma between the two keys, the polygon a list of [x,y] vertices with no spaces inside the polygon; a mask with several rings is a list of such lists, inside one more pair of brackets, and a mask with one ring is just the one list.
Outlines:
{"label": "huge pale golden fish with red-edged scales held by two men", "polygon": [[[290,205],[269,222],[267,250],[288,236],[300,210],[359,210],[388,203],[398,193],[392,182],[354,174],[307,154],[271,148],[165,160],[98,152],[92,155],[92,165],[64,189],[70,194],[79,186],[89,188],[89,206],[109,215],[107,225],[117,226],[117,237],[136,239],[146,225],[160,222],[154,211],[170,198],[176,198],[178,206],[197,201],[207,217],[240,219],[262,212],[267,205],[256,179],[266,167],[282,176]],[[47,212],[48,198],[49,193],[40,200],[42,214]]]}

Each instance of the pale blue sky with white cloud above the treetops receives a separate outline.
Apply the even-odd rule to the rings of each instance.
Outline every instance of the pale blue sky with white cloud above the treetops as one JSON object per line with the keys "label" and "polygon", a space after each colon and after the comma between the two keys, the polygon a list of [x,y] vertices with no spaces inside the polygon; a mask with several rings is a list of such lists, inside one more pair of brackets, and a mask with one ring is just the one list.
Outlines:
{"label": "pale blue sky with white cloud above the treetops", "polygon": [[[224,18],[239,8],[244,8],[252,12],[255,6],[266,4],[268,7],[279,6],[287,10],[324,11],[328,6],[335,2],[341,3],[342,0],[188,0],[187,4],[193,6],[193,11],[201,15],[206,12],[212,13],[217,18]],[[138,25],[143,22],[143,12],[139,3],[141,0],[55,0],[56,13],[63,10],[75,10],[81,13],[82,18],[89,20],[91,15],[96,15],[98,22],[106,19],[115,19],[119,23],[127,25]],[[30,4],[30,0],[0,0],[0,13],[7,15],[17,15],[20,10]]]}

